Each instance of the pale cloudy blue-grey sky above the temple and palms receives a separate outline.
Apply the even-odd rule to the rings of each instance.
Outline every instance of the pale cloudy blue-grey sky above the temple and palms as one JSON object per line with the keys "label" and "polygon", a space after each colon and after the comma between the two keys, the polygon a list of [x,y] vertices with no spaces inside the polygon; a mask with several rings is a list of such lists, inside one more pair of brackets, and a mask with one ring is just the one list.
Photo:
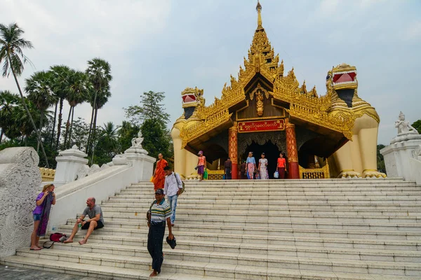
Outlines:
{"label": "pale cloudy blue-grey sky above the temple and palms", "polygon": [[[204,89],[206,104],[237,76],[257,27],[255,0],[0,0],[0,22],[17,22],[34,49],[25,53],[24,83],[34,71],[65,64],[83,71],[94,57],[112,66],[112,97],[98,125],[126,120],[124,107],[142,92],[165,92],[171,123],[181,116],[185,87]],[[380,116],[379,144],[396,136],[403,111],[421,119],[421,1],[261,0],[262,25],[285,73],[326,92],[326,73],[356,66],[359,96]],[[0,90],[18,92],[13,77]],[[69,107],[65,104],[64,116]],[[76,106],[88,123],[91,107]]]}

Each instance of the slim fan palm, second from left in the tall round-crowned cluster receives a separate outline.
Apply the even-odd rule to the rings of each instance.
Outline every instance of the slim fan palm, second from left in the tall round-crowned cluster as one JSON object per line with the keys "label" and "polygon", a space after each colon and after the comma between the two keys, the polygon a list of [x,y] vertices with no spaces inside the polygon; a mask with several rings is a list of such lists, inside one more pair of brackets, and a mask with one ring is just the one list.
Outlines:
{"label": "slim fan palm, second from left in the tall round-crowned cluster", "polygon": [[55,65],[51,66],[51,75],[53,77],[53,92],[59,99],[58,107],[58,124],[57,124],[57,141],[55,147],[58,148],[60,144],[60,134],[61,134],[61,125],[62,125],[62,110],[63,102],[67,98],[70,88],[70,75],[72,69],[65,65]]}

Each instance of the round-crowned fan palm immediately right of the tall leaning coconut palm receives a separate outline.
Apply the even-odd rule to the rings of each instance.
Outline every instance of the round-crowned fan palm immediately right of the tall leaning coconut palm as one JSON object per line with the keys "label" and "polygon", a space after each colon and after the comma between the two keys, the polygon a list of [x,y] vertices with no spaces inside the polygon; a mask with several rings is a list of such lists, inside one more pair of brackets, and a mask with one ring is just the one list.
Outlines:
{"label": "round-crowned fan palm immediately right of the tall leaning coconut palm", "polygon": [[[42,129],[43,120],[46,110],[53,104],[57,103],[58,98],[53,94],[51,89],[51,73],[45,71],[35,72],[30,78],[26,80],[25,92],[28,94],[28,99],[34,103],[36,108],[40,111],[39,131]],[[39,141],[36,144],[36,151],[39,150]]]}

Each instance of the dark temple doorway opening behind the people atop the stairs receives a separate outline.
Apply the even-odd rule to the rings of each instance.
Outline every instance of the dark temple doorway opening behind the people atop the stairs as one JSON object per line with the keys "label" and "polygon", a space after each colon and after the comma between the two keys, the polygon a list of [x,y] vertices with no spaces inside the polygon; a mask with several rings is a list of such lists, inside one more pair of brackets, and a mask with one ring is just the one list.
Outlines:
{"label": "dark temple doorway opening behind the people atop the stairs", "polygon": [[244,152],[241,156],[241,162],[246,160],[248,157],[248,152],[253,152],[253,157],[256,160],[256,166],[259,166],[259,160],[261,158],[262,153],[265,153],[265,158],[267,158],[267,172],[269,173],[269,179],[274,179],[274,172],[276,171],[276,162],[279,158],[279,148],[276,147],[272,141],[267,141],[265,144],[259,145],[255,141],[253,141],[250,145],[247,146],[246,152]]}

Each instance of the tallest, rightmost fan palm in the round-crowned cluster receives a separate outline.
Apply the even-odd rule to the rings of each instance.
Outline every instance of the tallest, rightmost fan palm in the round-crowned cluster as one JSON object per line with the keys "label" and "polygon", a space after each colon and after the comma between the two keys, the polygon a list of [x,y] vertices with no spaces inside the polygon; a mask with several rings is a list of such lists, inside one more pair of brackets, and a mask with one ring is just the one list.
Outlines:
{"label": "tallest, rightmost fan palm in the round-crowned cluster", "polygon": [[109,65],[109,63],[104,59],[94,58],[88,61],[88,69],[86,69],[86,74],[88,74],[88,78],[93,85],[93,99],[91,99],[91,125],[89,126],[88,144],[86,145],[86,153],[88,153],[91,147],[93,134],[95,134],[96,113],[98,113],[97,97],[98,94],[101,94],[101,92],[109,92],[109,82],[112,80],[111,65]]}

